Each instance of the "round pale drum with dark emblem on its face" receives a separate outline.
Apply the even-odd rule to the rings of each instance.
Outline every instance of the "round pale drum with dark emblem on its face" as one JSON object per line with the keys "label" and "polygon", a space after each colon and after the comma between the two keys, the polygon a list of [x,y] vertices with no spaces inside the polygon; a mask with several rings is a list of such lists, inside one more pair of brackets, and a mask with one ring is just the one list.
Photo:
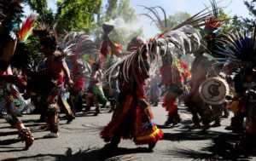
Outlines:
{"label": "round pale drum with dark emblem on its face", "polygon": [[201,99],[209,105],[223,103],[225,96],[229,95],[229,93],[229,85],[223,78],[207,78],[199,88]]}

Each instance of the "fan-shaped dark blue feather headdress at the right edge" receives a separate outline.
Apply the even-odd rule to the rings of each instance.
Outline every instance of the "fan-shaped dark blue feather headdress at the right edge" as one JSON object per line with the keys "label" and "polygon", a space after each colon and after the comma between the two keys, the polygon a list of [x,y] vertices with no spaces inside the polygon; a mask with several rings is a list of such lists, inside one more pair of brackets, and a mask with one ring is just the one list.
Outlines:
{"label": "fan-shaped dark blue feather headdress at the right edge", "polygon": [[256,31],[236,31],[219,34],[216,37],[216,48],[212,53],[220,60],[238,63],[241,66],[256,65]]}

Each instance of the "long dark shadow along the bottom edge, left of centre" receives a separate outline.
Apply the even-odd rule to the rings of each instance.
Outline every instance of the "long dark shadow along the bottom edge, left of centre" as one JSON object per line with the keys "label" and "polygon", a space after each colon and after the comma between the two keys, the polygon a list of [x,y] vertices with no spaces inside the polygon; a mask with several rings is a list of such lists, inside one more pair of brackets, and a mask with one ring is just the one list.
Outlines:
{"label": "long dark shadow along the bottom edge, left of centre", "polygon": [[[137,147],[137,148],[119,148],[114,152],[104,151],[103,149],[98,149],[96,147],[87,147],[85,150],[79,150],[79,152],[73,153],[73,150],[68,147],[65,154],[38,154],[34,156],[26,156],[19,158],[7,158],[2,161],[13,161],[13,160],[46,160],[51,159],[55,161],[84,161],[84,160],[106,160],[106,161],[116,161],[116,160],[134,160],[134,153],[143,153],[148,152],[146,147]],[[125,154],[131,154],[125,156]]]}

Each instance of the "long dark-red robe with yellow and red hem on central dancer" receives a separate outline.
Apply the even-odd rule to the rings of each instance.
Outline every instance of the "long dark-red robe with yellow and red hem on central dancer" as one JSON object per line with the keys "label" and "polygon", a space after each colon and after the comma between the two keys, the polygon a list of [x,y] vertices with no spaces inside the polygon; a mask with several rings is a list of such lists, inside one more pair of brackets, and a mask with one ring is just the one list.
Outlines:
{"label": "long dark-red robe with yellow and red hem on central dancer", "polygon": [[[113,112],[113,119],[101,132],[104,141],[118,144],[122,137],[132,138],[137,145],[152,145],[162,138],[163,133],[154,123],[150,107],[144,100],[143,83],[144,79],[148,78],[149,66],[140,55],[139,52],[134,52],[127,56],[134,58],[133,63],[142,65],[137,64],[134,69],[132,67],[129,69],[131,75],[129,74],[127,82],[122,78],[123,72],[119,73],[122,86]],[[120,67],[125,69],[125,62]]]}

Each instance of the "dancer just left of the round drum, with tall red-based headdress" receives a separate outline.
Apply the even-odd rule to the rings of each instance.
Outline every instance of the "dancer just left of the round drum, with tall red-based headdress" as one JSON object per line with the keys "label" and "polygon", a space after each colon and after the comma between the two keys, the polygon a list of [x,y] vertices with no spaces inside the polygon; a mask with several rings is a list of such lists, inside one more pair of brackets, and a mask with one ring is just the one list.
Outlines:
{"label": "dancer just left of the round drum, with tall red-based headdress", "polygon": [[192,121],[194,123],[189,129],[201,128],[198,115],[201,117],[203,130],[210,128],[210,123],[212,122],[212,109],[201,99],[199,93],[200,85],[207,80],[207,73],[212,67],[212,62],[204,55],[212,49],[212,46],[206,45],[205,42],[211,44],[216,30],[224,24],[224,20],[218,20],[218,7],[214,0],[212,0],[212,12],[213,15],[205,20],[204,28],[201,30],[203,33],[203,45],[201,49],[193,52],[195,60],[191,66],[190,90],[189,94],[183,97],[185,105],[189,107],[189,111],[192,113]]}

